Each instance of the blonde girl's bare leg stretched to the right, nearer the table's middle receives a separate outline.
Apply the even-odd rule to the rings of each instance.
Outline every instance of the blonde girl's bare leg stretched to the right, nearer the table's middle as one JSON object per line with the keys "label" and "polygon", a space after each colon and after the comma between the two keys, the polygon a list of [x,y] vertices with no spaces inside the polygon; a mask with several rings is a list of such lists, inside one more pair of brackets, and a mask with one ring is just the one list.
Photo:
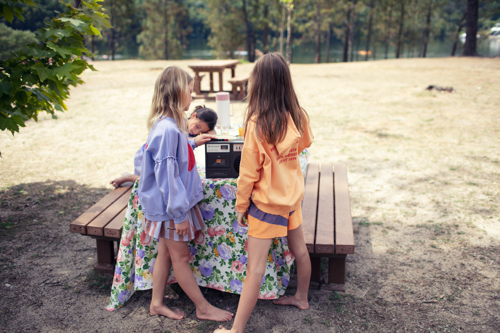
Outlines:
{"label": "blonde girl's bare leg stretched to the right, nearer the table's middle", "polygon": [[[187,242],[178,242],[166,239],[168,250],[171,254],[173,272],[180,288],[186,293],[196,306],[196,317],[199,319],[212,320],[216,322],[228,322],[233,314],[219,308],[215,308],[206,302],[194,279],[189,266],[189,248]],[[153,278],[154,280],[154,278]]]}

